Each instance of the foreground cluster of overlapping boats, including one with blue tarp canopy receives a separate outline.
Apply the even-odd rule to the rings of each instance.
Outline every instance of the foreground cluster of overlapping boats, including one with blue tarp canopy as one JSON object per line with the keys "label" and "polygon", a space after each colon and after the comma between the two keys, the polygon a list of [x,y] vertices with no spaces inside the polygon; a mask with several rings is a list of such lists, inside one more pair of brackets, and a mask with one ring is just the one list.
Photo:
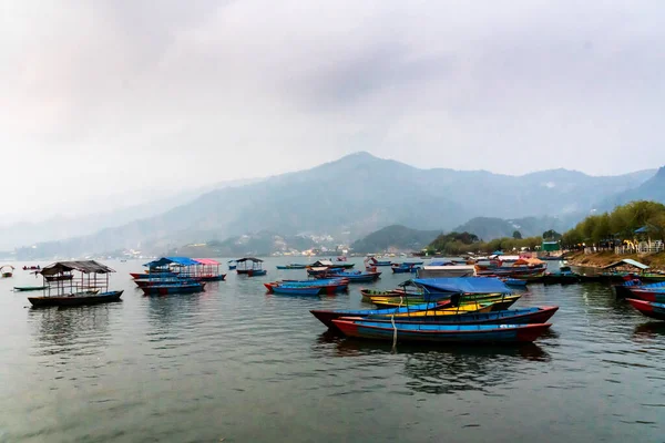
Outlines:
{"label": "foreground cluster of overlapping boats, including one with blue tarp canopy", "polygon": [[426,342],[529,342],[559,307],[509,309],[519,298],[494,277],[417,278],[391,291],[361,290],[382,309],[311,310],[348,337]]}

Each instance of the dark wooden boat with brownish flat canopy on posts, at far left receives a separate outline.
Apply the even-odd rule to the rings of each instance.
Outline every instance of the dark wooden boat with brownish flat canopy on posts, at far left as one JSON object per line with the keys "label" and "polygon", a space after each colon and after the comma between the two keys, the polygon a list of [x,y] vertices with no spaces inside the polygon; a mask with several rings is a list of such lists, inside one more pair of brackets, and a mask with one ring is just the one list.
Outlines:
{"label": "dark wooden boat with brownish flat canopy on posts, at far left", "polygon": [[[79,272],[74,278],[73,272]],[[98,305],[120,300],[122,290],[109,290],[115,272],[95,260],[58,261],[42,268],[44,295],[28,297],[33,307]]]}

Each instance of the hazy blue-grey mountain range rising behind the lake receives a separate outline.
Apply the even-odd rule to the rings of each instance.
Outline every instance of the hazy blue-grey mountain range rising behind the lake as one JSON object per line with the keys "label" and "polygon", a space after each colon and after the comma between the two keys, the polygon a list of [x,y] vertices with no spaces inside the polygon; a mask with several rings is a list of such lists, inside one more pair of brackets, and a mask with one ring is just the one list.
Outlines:
{"label": "hazy blue-grey mountain range rising behind the lake", "polygon": [[551,217],[563,229],[608,202],[634,193],[659,195],[664,174],[648,169],[594,177],[550,169],[510,176],[421,169],[361,152],[311,169],[216,188],[160,214],[85,236],[31,245],[30,251],[42,257],[119,248],[161,254],[177,245],[264,230],[280,236],[331,236],[350,244],[389,225],[441,231],[473,217]]}

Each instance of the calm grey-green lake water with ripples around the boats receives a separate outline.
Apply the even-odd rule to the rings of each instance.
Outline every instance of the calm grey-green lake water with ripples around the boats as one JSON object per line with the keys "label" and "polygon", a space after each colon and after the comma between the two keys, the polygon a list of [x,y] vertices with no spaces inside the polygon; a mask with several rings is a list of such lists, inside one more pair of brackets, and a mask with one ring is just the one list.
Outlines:
{"label": "calm grey-green lake water with ripples around the boats", "polygon": [[[11,288],[41,278],[14,262],[0,280],[0,442],[665,440],[665,322],[606,286],[531,285],[515,307],[561,307],[533,346],[392,353],[329,337],[308,312],[370,308],[360,286],[266,295],[265,281],[305,278],[275,269],[288,261],[160,298],[135,289],[140,261],[108,261],[122,302],[39,310]],[[368,286],[408,278],[383,269]]]}

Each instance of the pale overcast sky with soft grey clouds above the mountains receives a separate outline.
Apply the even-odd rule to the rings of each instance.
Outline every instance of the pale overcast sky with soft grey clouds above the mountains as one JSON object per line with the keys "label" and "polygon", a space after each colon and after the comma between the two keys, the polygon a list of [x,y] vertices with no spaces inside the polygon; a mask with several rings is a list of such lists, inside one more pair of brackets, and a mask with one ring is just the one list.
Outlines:
{"label": "pale overcast sky with soft grey clouds above the mountains", "polygon": [[655,167],[664,22],[662,0],[4,0],[0,215],[356,151],[507,174]]}

